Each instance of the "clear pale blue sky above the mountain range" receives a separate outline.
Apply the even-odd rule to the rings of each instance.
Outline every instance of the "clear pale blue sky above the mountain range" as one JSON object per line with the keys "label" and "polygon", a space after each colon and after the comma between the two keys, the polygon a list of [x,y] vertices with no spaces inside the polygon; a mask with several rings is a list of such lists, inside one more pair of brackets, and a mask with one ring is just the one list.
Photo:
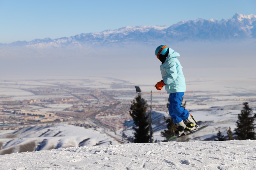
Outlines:
{"label": "clear pale blue sky above the mountain range", "polygon": [[255,15],[255,0],[0,0],[0,43],[197,18],[221,20],[236,12]]}

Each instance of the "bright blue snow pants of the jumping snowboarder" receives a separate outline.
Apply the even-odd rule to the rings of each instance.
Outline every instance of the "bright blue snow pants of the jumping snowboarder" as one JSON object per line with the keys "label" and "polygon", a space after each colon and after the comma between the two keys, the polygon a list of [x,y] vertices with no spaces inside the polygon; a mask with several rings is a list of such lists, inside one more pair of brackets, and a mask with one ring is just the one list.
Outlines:
{"label": "bright blue snow pants of the jumping snowboarder", "polygon": [[181,107],[181,100],[184,92],[170,93],[169,114],[174,123],[179,123],[188,119],[188,110]]}

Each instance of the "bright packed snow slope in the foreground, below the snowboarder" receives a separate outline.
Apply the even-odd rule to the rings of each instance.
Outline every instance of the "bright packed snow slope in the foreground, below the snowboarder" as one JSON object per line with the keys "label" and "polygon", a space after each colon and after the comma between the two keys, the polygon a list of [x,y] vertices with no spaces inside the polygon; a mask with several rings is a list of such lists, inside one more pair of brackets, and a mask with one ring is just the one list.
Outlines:
{"label": "bright packed snow slope in the foreground, below the snowboarder", "polygon": [[84,146],[0,155],[1,170],[254,169],[256,140]]}

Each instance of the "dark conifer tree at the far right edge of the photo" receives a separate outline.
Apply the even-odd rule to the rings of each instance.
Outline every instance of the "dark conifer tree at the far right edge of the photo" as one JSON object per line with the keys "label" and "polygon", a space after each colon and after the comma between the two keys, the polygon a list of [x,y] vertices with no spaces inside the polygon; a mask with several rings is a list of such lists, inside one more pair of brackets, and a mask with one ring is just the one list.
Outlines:
{"label": "dark conifer tree at the far right edge of the photo", "polygon": [[253,139],[255,140],[255,121],[256,114],[252,115],[252,109],[249,107],[247,102],[243,103],[244,107],[241,110],[241,114],[238,114],[238,120],[236,121],[236,132],[237,138],[240,140]]}

